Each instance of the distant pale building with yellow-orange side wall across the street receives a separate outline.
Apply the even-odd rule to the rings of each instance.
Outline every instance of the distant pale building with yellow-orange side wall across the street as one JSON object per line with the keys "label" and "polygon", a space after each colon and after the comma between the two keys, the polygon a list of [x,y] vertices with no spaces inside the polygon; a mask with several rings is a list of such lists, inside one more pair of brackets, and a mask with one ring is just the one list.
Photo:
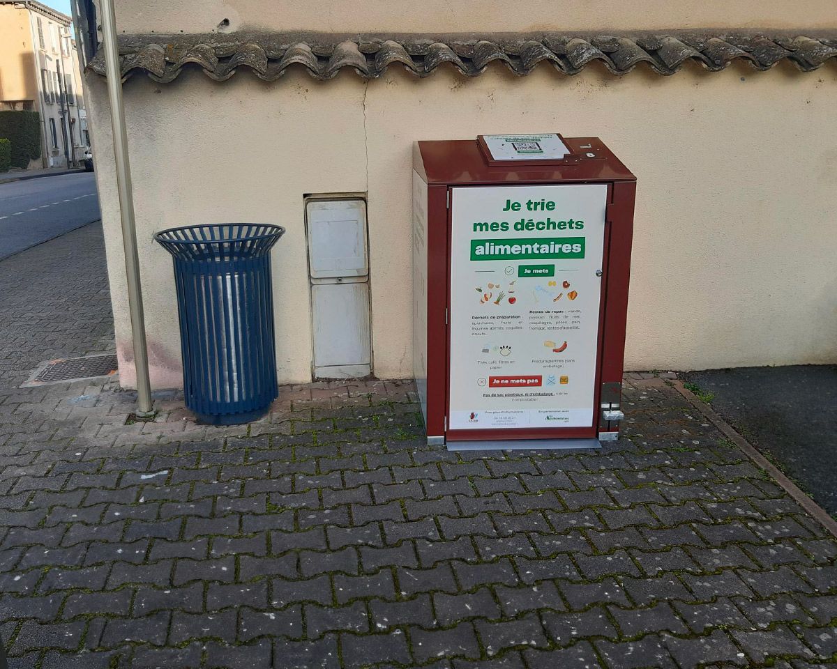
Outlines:
{"label": "distant pale building with yellow-orange side wall across the street", "polygon": [[71,20],[31,0],[0,0],[0,110],[39,112],[42,157],[31,167],[78,164],[90,144]]}

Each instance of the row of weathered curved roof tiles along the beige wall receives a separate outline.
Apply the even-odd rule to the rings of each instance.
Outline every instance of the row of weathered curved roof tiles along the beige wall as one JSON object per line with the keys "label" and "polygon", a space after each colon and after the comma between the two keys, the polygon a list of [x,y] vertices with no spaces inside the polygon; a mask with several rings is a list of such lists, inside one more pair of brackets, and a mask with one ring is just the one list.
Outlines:
{"label": "row of weathered curved roof tiles along the beige wall", "polygon": [[[344,68],[376,79],[391,66],[419,77],[449,63],[470,77],[494,62],[516,74],[529,74],[549,62],[563,74],[578,74],[594,60],[613,74],[647,64],[658,74],[675,74],[687,61],[716,72],[737,59],[767,70],[787,59],[804,72],[837,60],[837,36],[750,31],[670,31],[670,33],[594,35],[547,33],[494,36],[378,35],[340,37],[316,33],[212,33],[208,35],[122,35],[122,77],[147,74],[159,83],[177,79],[197,66],[209,78],[224,81],[240,69],[274,81],[285,70],[304,67],[316,79],[333,79]],[[89,69],[105,74],[101,51]]]}

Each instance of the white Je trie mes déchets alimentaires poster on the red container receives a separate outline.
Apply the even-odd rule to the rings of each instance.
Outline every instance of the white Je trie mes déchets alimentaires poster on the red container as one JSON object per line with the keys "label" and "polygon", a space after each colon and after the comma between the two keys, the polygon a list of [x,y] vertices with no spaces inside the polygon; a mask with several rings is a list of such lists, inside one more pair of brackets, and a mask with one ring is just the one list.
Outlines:
{"label": "white Je trie mes d\u00e9chets alimentaires poster on the red container", "polygon": [[453,189],[449,429],[593,425],[607,186]]}

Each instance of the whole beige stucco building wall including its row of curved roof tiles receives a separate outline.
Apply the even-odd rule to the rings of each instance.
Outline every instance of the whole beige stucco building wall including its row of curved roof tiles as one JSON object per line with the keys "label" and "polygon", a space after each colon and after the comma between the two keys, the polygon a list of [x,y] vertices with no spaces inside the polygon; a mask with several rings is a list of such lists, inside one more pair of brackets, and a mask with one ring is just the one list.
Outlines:
{"label": "whole beige stucco building wall including its row of curved roof tiles", "polygon": [[[152,383],[182,382],[152,232],[208,222],[287,227],[276,359],[280,380],[311,379],[306,197],[329,193],[367,204],[372,373],[409,376],[413,142],[490,133],[599,136],[638,177],[628,369],[837,361],[834,0],[594,4],[116,3]],[[95,16],[80,34],[131,386]]]}

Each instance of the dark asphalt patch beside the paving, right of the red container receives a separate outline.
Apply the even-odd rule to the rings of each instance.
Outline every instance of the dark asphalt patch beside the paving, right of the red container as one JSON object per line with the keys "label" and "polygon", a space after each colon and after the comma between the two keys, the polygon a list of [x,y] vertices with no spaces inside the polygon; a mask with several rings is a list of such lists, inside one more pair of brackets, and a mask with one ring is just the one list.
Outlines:
{"label": "dark asphalt patch beside the paving, right of the red container", "polygon": [[837,517],[837,365],[691,372],[711,406]]}

